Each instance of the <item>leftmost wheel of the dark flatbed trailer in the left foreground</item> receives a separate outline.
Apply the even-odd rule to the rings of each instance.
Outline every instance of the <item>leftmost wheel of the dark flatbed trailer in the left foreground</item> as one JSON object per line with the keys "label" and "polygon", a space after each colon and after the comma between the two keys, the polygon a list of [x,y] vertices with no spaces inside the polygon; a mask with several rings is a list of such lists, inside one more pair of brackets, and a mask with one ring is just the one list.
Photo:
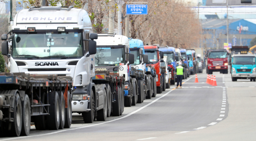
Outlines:
{"label": "leftmost wheel of the dark flatbed trailer in the left foreground", "polygon": [[14,122],[11,122],[11,136],[20,136],[22,129],[22,102],[19,93],[16,93],[14,98],[14,111],[11,113],[11,117],[14,118]]}

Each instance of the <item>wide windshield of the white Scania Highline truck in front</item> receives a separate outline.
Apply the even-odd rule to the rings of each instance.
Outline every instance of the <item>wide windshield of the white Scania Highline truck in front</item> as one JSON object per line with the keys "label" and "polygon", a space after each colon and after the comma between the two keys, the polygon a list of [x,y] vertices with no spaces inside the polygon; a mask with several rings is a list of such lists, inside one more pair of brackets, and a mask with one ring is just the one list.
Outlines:
{"label": "wide windshield of the white Scania Highline truck in front", "polygon": [[82,33],[16,34],[12,42],[12,57],[27,58],[80,58],[83,56]]}

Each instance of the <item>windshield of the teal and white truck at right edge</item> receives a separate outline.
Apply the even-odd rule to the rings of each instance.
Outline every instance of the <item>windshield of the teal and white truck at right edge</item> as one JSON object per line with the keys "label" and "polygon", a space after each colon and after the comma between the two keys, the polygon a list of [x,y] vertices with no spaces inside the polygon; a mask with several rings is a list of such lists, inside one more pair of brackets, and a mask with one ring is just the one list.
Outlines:
{"label": "windshield of the teal and white truck at right edge", "polygon": [[254,56],[234,56],[233,57],[234,65],[255,65]]}

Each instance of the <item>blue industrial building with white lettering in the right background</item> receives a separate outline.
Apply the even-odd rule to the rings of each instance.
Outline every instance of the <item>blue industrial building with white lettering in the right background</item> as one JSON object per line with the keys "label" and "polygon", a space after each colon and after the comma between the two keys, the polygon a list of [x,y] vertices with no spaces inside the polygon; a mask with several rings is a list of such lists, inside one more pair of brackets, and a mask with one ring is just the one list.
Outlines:
{"label": "blue industrial building with white lettering in the right background", "polygon": [[[202,19],[202,47],[224,48],[227,42],[226,19]],[[232,46],[250,46],[256,37],[256,19],[229,19],[228,42]]]}

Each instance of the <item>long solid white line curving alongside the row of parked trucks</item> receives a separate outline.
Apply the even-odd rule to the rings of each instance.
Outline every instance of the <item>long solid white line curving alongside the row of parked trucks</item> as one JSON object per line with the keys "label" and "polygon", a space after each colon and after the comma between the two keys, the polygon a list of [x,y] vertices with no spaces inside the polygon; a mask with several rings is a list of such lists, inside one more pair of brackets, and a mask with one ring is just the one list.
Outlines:
{"label": "long solid white line curving alongside the row of parked trucks", "polygon": [[[194,76],[192,76],[194,77]],[[192,77],[190,77],[189,79],[191,79]],[[188,80],[189,80],[188,79]],[[186,81],[188,81],[186,80]],[[125,115],[123,117],[120,117],[118,119],[113,119],[111,121],[106,121],[106,122],[102,122],[102,123],[97,123],[97,124],[93,124],[93,125],[88,125],[88,126],[83,126],[83,127],[77,127],[77,128],[73,128],[73,129],[66,129],[66,130],[60,130],[60,131],[56,131],[56,132],[51,132],[51,133],[46,133],[46,134],[40,134],[40,135],[31,135],[31,136],[23,136],[23,137],[12,137],[12,138],[8,138],[8,139],[2,139],[0,141],[7,141],[7,140],[12,140],[12,139],[22,139],[22,138],[27,138],[27,137],[38,137],[38,136],[44,136],[44,135],[52,135],[52,134],[56,134],[56,133],[61,133],[61,132],[64,132],[64,131],[70,131],[70,130],[76,130],[76,129],[82,129],[82,128],[87,128],[87,127],[92,127],[92,126],[96,126],[96,125],[101,125],[101,124],[105,124],[105,123],[110,123],[110,122],[113,122],[113,121],[117,121],[117,120],[120,120],[120,119],[124,119],[126,117],[129,117],[130,115],[133,115],[134,113],[137,113],[138,111],[148,107],[149,105],[155,103],[156,101],[158,101],[159,99],[165,97],[166,95],[168,95],[171,91],[173,91],[174,89],[168,91],[167,93],[165,93],[164,95],[162,95],[161,97],[158,97],[157,99],[153,100],[152,102],[148,103],[147,105],[144,105],[143,107],[140,107],[139,109],[133,111],[132,113],[129,113],[128,115]]]}

